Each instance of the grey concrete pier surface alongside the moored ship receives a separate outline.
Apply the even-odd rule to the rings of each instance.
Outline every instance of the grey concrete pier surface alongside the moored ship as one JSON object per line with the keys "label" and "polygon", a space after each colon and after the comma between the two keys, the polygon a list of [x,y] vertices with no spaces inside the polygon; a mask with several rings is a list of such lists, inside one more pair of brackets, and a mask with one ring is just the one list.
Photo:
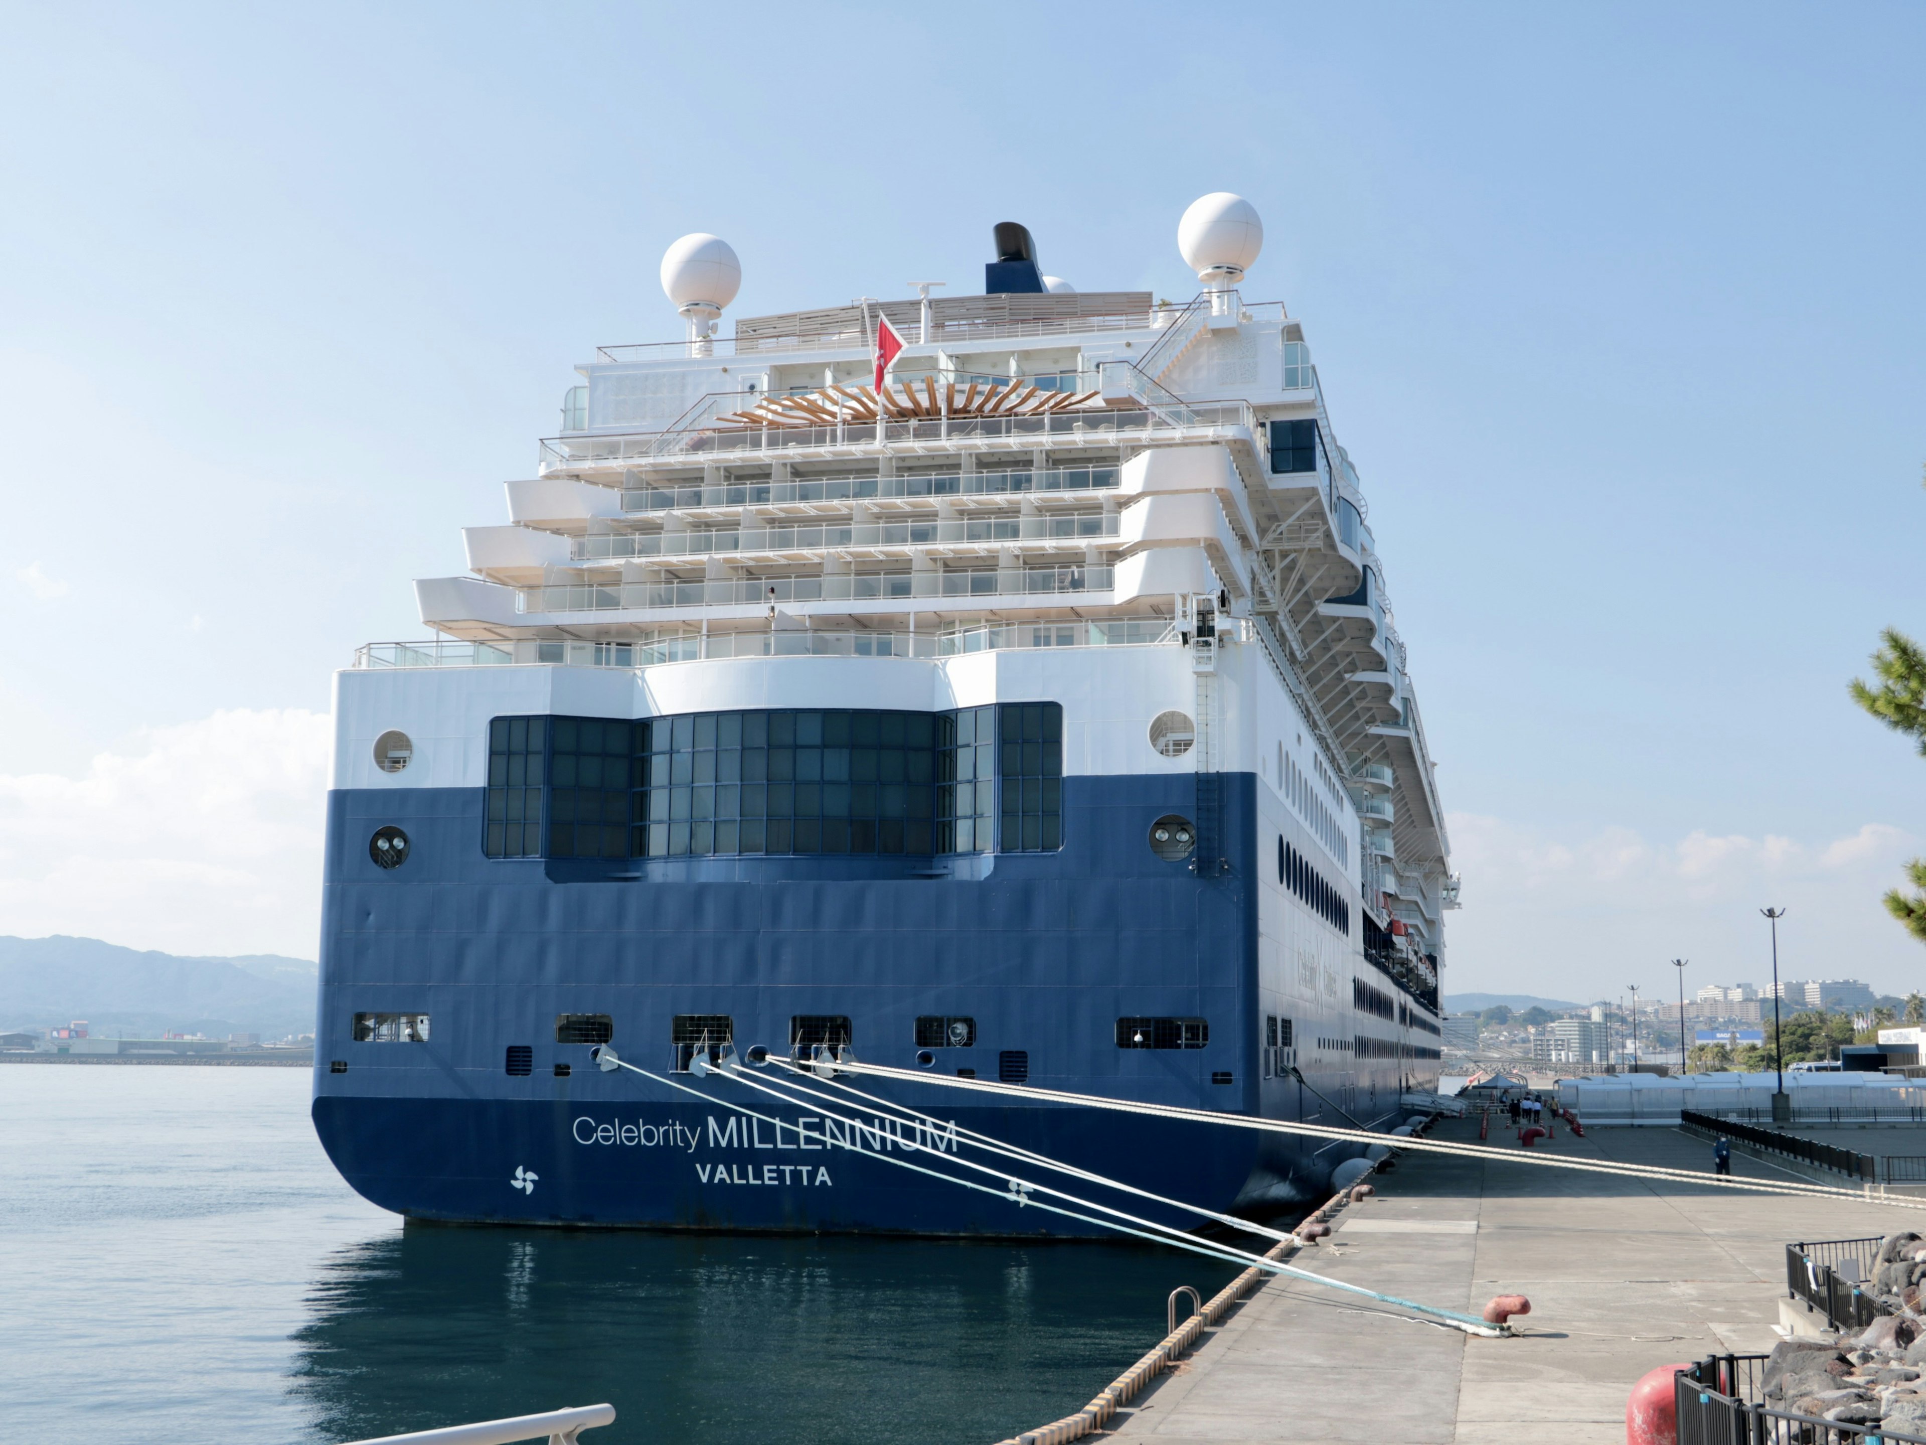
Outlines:
{"label": "grey concrete pier surface alongside the moored ship", "polygon": [[[1471,1121],[1439,1139],[1475,1141]],[[1493,1143],[1516,1148],[1493,1129]],[[1676,1129],[1558,1129],[1560,1154],[1710,1171]],[[1733,1156],[1741,1177],[1787,1177]],[[1471,1339],[1369,1300],[1273,1279],[1136,1408],[1125,1439],[1620,1445],[1647,1370],[1780,1339],[1785,1245],[1911,1227],[1926,1212],[1408,1154],[1379,1196],[1294,1260],[1339,1279],[1477,1314],[1527,1295],[1518,1339]]]}

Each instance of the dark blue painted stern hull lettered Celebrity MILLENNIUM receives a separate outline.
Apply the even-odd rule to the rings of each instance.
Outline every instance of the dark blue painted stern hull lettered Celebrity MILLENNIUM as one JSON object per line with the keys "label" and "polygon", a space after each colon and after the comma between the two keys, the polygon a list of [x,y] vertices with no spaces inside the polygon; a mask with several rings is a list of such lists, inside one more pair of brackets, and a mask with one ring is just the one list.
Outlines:
{"label": "dark blue painted stern hull lettered Celebrity MILLENNIUM", "polygon": [[[1196,776],[1065,778],[1065,846],[953,869],[923,857],[738,857],[620,863],[487,859],[480,788],[337,790],[316,1029],[314,1125],[343,1177],[424,1220],[684,1229],[1094,1235],[1015,1202],[994,1164],[921,1143],[851,1104],[865,1129],[807,1119],[753,1089],[601,1073],[553,1042],[559,1013],[607,1013],[614,1046],[668,1075],[672,1015],[730,1015],[738,1050],[788,1052],[794,1015],[851,1019],[859,1060],[917,1067],[915,1019],[967,1015],[976,1044],[934,1069],[996,1079],[1021,1054],[1032,1085],[1277,1119],[1344,1123],[1335,1077],[1277,1073],[1263,1050],[1258,838],[1250,775],[1221,776],[1223,871],[1167,863],[1150,819],[1196,807]],[[368,838],[406,828],[404,867]],[[364,1042],[358,1012],[428,1013],[426,1042]],[[1298,1031],[1348,1027],[1348,1010]],[[1119,1017],[1208,1019],[1200,1048],[1119,1048]],[[507,1050],[528,1050],[524,1073]],[[566,1075],[559,1065],[566,1067]],[[768,1071],[778,1075],[776,1069]],[[1267,1077],[1271,1075],[1271,1077]],[[1389,1127],[1398,1060],[1358,1062],[1356,1117]],[[772,1079],[774,1081],[774,1079]],[[867,1083],[942,1121],[1211,1210],[1310,1200],[1356,1146],[1025,1104],[934,1085]],[[753,1123],[738,1104],[778,1117]],[[805,1121],[807,1119],[807,1121]],[[838,1137],[840,1135],[840,1137]],[[896,1160],[896,1162],[892,1162]],[[917,1173],[903,1164],[936,1169]],[[1059,1183],[1021,1169],[1038,1183]],[[1104,1204],[1158,1216],[1094,1187]]]}

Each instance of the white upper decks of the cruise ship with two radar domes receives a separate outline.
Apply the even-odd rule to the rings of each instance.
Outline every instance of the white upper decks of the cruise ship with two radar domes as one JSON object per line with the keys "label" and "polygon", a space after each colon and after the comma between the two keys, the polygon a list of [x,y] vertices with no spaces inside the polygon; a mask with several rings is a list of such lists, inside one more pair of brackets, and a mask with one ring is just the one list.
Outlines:
{"label": "white upper decks of the cruise ship with two radar domes", "polygon": [[[1206,285],[1188,304],[915,283],[720,337],[740,262],[684,237],[663,285],[686,339],[582,364],[507,522],[466,530],[470,572],[416,584],[441,638],[358,665],[639,669],[655,713],[1077,701],[1065,775],[1256,775],[1258,836],[1304,838],[1362,900],[1371,961],[1435,998],[1458,884],[1433,765],[1304,328],[1236,289],[1262,239],[1215,195],[1181,227]],[[905,347],[878,397],[880,322]],[[541,676],[503,672],[476,719],[416,726],[595,690]],[[385,786],[360,730],[345,719],[337,786]],[[1348,1010],[1360,931],[1287,927],[1275,880],[1265,900],[1265,992]]]}

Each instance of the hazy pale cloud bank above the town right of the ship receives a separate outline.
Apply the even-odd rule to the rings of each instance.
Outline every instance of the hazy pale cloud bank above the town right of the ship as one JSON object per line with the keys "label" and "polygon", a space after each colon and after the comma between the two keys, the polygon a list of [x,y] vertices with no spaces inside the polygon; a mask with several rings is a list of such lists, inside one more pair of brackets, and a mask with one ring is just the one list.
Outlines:
{"label": "hazy pale cloud bank above the town right of the ship", "polygon": [[[1864,979],[1880,992],[1926,985],[1926,950],[1880,896],[1903,882],[1920,838],[1866,823],[1843,838],[1693,830],[1653,842],[1631,828],[1556,836],[1504,819],[1448,819],[1464,909],[1446,921],[1446,992],[1616,998],[1627,983],[1687,992],[1772,977],[1758,909],[1787,907],[1782,979]],[[1662,969],[1662,971],[1660,971]]]}

